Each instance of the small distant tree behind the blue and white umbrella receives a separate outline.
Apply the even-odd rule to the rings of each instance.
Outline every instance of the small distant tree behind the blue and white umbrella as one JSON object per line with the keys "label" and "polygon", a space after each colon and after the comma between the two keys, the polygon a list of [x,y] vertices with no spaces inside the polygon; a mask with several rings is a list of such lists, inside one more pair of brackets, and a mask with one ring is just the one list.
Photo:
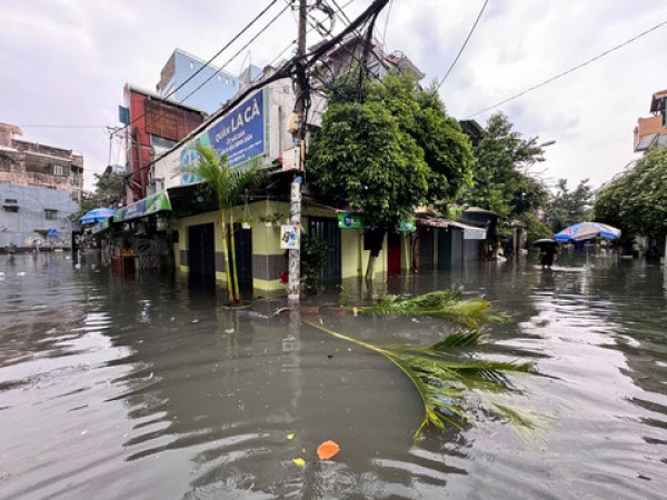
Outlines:
{"label": "small distant tree behind the blue and white umbrella", "polygon": [[547,207],[547,223],[551,231],[559,232],[568,226],[588,220],[593,206],[593,189],[588,179],[579,182],[574,191],[567,188],[567,180],[558,180],[558,190]]}

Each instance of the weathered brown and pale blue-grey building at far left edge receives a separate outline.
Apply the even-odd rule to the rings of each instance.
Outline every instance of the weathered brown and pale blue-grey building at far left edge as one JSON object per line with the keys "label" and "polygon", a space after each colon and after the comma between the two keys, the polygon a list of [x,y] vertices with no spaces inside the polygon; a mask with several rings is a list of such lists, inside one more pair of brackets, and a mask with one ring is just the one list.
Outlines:
{"label": "weathered brown and pale blue-grey building at far left edge", "polygon": [[69,216],[79,210],[83,157],[72,150],[17,139],[0,123],[0,248],[69,247]]}

